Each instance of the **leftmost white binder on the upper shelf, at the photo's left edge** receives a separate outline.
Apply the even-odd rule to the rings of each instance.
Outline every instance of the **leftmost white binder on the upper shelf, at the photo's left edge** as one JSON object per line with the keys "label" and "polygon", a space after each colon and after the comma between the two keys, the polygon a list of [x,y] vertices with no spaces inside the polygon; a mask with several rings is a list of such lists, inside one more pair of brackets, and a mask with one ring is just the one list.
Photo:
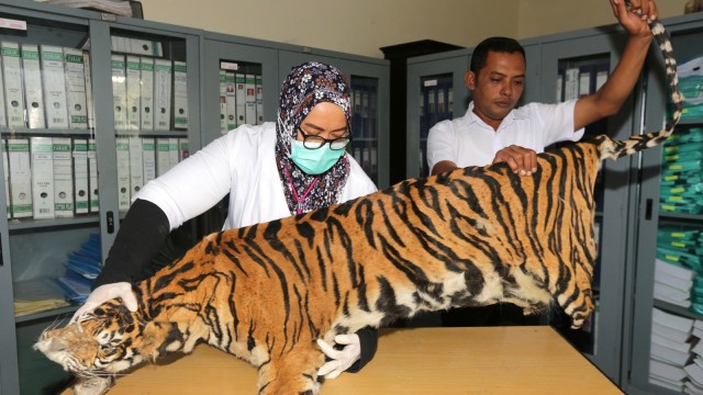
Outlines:
{"label": "leftmost white binder on the upper shelf, at the photo's left edge", "polygon": [[2,79],[4,82],[5,116],[9,127],[24,127],[24,90],[22,88],[22,61],[20,45],[3,41]]}

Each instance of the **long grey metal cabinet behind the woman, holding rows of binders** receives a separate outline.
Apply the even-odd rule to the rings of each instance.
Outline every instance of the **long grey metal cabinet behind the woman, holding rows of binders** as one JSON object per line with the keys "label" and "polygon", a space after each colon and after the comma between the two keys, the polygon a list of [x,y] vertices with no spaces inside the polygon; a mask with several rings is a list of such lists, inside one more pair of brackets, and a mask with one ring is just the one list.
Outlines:
{"label": "long grey metal cabinet behind the woman, holding rows of binders", "polygon": [[[0,193],[5,203],[0,204],[0,218],[7,218],[0,219],[0,395],[55,393],[69,380],[31,346],[44,328],[68,319],[76,306],[15,316],[13,302],[36,295],[37,286],[53,287],[52,279],[65,272],[67,256],[90,237],[97,235],[104,261],[133,193],[148,180],[239,123],[275,121],[280,83],[291,66],[317,58],[350,79],[366,108],[356,114],[359,135],[349,151],[379,187],[388,185],[387,60],[22,0],[3,2],[0,19],[3,26],[16,26],[0,29],[0,43],[82,50],[89,83],[86,127],[30,126],[26,119],[16,126],[0,116],[3,155],[9,139],[69,137],[91,143],[94,151],[81,158],[90,158],[89,169],[97,170],[89,182],[94,205],[89,204],[87,213],[38,219],[15,213],[14,188],[8,180],[12,161],[0,162],[8,174],[8,182],[0,183],[0,192],[5,192]],[[238,82],[247,84],[248,93],[242,112],[227,108],[227,95]],[[360,110],[361,102],[357,104]],[[205,213],[177,230],[194,241],[219,229],[217,221]]]}

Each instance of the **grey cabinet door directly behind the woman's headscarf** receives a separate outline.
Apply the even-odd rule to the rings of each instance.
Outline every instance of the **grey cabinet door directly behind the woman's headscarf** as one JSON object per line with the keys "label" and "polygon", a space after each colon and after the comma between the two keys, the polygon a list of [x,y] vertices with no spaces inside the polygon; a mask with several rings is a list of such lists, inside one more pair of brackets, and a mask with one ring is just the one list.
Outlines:
{"label": "grey cabinet door directly behind the woman's headscarf", "polygon": [[342,57],[336,53],[297,53],[281,50],[280,81],[290,69],[316,60],[337,67],[349,80],[352,95],[352,143],[347,151],[379,188],[389,184],[389,65],[386,60]]}

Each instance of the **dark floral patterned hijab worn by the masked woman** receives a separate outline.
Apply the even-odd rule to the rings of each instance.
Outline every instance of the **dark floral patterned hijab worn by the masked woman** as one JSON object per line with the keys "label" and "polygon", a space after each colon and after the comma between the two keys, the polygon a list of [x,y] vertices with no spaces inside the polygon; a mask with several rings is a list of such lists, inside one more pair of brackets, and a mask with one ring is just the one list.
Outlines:
{"label": "dark floral patterned hijab worn by the masked woman", "polygon": [[303,172],[290,159],[298,126],[320,102],[337,104],[344,111],[347,124],[350,123],[349,83],[346,77],[333,66],[316,61],[294,67],[281,88],[276,124],[276,165],[291,214],[337,203],[349,177],[346,155],[316,177]]}

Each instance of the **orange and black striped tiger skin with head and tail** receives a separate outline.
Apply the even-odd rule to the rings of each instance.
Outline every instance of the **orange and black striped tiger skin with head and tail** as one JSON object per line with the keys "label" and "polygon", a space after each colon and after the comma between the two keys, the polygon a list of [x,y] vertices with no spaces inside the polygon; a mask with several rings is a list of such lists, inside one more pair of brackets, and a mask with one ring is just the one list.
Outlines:
{"label": "orange and black striped tiger skin with head and tail", "polygon": [[212,234],[133,286],[137,312],[110,301],[35,347],[79,376],[77,394],[102,394],[115,373],[199,341],[258,368],[260,394],[316,394],[315,339],[420,312],[511,302],[531,314],[555,301],[578,328],[593,311],[601,161],[661,143],[680,116],[670,43],[658,21],[652,32],[677,106],[666,129],[542,154],[532,177],[459,169]]}

